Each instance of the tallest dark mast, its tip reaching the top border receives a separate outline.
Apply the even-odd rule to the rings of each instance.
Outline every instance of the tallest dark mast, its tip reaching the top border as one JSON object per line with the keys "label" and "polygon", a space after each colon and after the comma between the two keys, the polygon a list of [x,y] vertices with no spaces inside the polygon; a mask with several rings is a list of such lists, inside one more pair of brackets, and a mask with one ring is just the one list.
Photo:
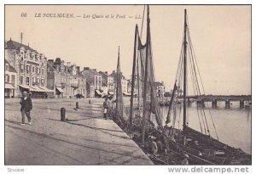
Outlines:
{"label": "tallest dark mast, its tip reaching the top border", "polygon": [[147,96],[148,96],[148,50],[150,43],[150,28],[149,28],[149,6],[147,6],[147,42],[146,42],[146,62],[145,62],[145,76],[144,76],[144,92],[143,92],[143,136],[142,143],[145,143],[145,131],[146,131],[146,114],[148,109]]}

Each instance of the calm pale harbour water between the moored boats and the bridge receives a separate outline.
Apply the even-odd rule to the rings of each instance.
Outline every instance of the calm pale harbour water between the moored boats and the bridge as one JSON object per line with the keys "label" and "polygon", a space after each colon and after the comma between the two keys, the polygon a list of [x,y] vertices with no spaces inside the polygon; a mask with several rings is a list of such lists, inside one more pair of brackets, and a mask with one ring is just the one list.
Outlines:
{"label": "calm pale harbour water between the moored boats and the bridge", "polygon": [[[175,127],[183,128],[183,104],[178,105],[180,113],[176,115]],[[162,114],[163,125],[166,122],[166,115],[168,112],[168,107],[160,107]],[[226,143],[231,147],[235,147],[237,149],[242,149],[248,154],[252,153],[251,146],[251,122],[252,122],[252,111],[251,108],[245,109],[240,108],[239,102],[230,102],[230,108],[225,108],[224,102],[218,102],[218,106],[216,108],[212,108],[212,103],[205,103],[205,115],[207,119],[207,125],[205,123],[205,127],[207,130],[207,126],[209,128],[210,135],[213,138],[217,138],[220,142]],[[199,113],[199,114],[198,114]],[[212,119],[211,119],[211,115]],[[142,115],[142,113],[141,113]],[[187,122],[189,127],[195,129],[198,132],[202,130],[204,132],[204,126],[201,120],[201,126],[199,117],[200,111],[197,111],[196,103],[190,104],[187,107]],[[154,115],[151,115],[151,121],[156,125],[156,121]],[[168,126],[172,126],[173,121],[173,110],[171,114],[171,123]],[[212,124],[212,121],[215,125]]]}

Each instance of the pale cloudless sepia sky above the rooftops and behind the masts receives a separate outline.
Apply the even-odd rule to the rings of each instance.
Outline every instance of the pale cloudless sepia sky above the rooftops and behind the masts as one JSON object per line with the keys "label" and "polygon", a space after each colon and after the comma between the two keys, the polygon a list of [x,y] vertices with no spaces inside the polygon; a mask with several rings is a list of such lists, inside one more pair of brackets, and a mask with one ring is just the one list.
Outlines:
{"label": "pale cloudless sepia sky above the rooftops and behind the masts", "polygon": [[[170,89],[175,81],[183,37],[183,9],[187,8],[190,36],[207,94],[251,94],[251,6],[150,6],[154,70],[157,81]],[[26,17],[21,17],[26,13]],[[72,19],[35,14],[74,14]],[[143,5],[20,5],[5,6],[5,40],[23,43],[60,57],[81,68],[111,72],[120,46],[121,70],[131,76],[135,25],[142,25]],[[104,18],[92,19],[92,14]],[[105,18],[113,14],[113,19]],[[125,14],[125,19],[117,19]],[[90,18],[83,18],[90,15]],[[128,16],[132,16],[129,18]],[[144,20],[146,22],[146,20]],[[144,26],[145,23],[144,23]],[[145,27],[144,27],[145,28]],[[145,39],[145,36],[144,36]]]}

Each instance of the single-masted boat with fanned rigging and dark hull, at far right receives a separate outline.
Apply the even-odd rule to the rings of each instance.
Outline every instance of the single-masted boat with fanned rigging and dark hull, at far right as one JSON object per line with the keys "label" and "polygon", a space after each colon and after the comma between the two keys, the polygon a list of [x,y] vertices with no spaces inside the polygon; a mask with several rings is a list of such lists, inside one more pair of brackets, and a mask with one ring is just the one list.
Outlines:
{"label": "single-masted boat with fanned rigging and dark hull, at far right", "polygon": [[[188,64],[189,63],[189,64]],[[183,46],[179,65],[177,68],[176,81],[172,90],[172,98],[169,104],[166,125],[171,122],[171,109],[173,110],[172,126],[169,129],[168,148],[177,154],[189,154],[189,161],[196,165],[249,165],[251,164],[251,155],[246,154],[241,149],[235,149],[228,144],[218,141],[218,134],[211,116],[212,125],[216,133],[216,138],[212,138],[207,123],[207,116],[203,107],[197,107],[201,132],[195,131],[189,127],[187,117],[187,92],[188,92],[188,65],[190,65],[190,74],[192,87],[195,95],[201,95],[204,92],[201,76],[195,59],[191,38],[189,36],[189,25],[187,10],[184,10],[184,31]],[[178,89],[183,86],[183,93],[178,93]],[[201,90],[202,87],[202,90]],[[177,119],[177,99],[183,97],[183,130],[175,128]],[[170,139],[172,137],[172,140]]]}

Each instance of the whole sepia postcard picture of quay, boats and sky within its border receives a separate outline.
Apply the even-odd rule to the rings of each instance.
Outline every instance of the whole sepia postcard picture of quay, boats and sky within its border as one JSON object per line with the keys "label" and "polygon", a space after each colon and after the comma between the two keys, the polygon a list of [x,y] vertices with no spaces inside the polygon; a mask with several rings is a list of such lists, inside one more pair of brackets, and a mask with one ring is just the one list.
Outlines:
{"label": "whole sepia postcard picture of quay, boats and sky within its border", "polygon": [[252,165],[250,4],[4,4],[2,62],[4,166]]}

